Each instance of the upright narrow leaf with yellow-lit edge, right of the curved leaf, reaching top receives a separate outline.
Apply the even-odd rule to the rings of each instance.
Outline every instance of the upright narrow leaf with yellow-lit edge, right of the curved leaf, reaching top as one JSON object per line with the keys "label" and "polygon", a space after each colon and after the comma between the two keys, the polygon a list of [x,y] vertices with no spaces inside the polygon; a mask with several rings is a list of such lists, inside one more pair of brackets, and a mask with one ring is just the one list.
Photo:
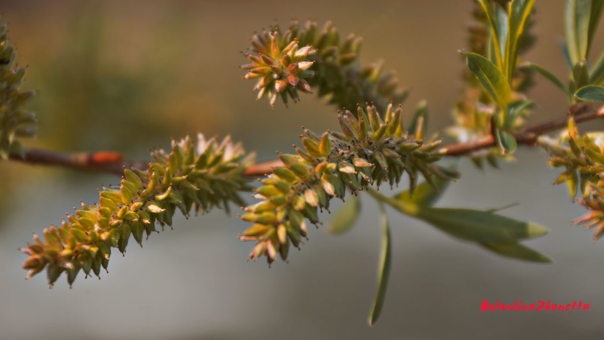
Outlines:
{"label": "upright narrow leaf with yellow-lit edge, right of the curved leaf, reaching top", "polygon": [[506,43],[506,76],[510,83],[516,70],[518,59],[518,45],[524,31],[528,28],[530,14],[533,11],[535,0],[512,0],[508,14],[508,35]]}

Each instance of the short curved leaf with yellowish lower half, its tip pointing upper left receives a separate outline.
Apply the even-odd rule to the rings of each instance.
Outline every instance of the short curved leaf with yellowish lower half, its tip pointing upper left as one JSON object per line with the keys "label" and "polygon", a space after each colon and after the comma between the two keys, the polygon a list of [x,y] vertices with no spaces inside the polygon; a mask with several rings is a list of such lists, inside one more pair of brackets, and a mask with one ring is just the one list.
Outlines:
{"label": "short curved leaf with yellowish lower half, its tip pointing upper left", "polygon": [[466,56],[467,68],[478,78],[478,82],[500,107],[506,107],[510,101],[511,90],[506,77],[489,59],[476,53],[460,51]]}

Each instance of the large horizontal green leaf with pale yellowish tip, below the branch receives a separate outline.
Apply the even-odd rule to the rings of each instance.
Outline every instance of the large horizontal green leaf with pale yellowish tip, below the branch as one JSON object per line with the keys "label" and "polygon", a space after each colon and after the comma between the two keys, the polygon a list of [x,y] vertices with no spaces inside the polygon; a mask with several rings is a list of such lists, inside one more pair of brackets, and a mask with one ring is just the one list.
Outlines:
{"label": "large horizontal green leaf with pale yellowish tip, below the branch", "polygon": [[474,242],[508,243],[548,233],[535,223],[480,210],[419,207],[417,217],[451,236]]}

